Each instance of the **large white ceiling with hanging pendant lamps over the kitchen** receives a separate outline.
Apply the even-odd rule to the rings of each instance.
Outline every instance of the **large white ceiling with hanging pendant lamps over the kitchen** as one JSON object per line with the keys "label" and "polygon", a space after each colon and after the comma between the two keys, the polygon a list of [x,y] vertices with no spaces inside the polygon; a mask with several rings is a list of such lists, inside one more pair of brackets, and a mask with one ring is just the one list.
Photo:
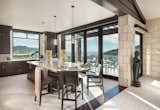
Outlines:
{"label": "large white ceiling with hanging pendant lamps over the kitchen", "polygon": [[71,4],[75,5],[74,27],[114,16],[90,0],[0,0],[0,24],[32,31],[62,31],[72,27]]}

